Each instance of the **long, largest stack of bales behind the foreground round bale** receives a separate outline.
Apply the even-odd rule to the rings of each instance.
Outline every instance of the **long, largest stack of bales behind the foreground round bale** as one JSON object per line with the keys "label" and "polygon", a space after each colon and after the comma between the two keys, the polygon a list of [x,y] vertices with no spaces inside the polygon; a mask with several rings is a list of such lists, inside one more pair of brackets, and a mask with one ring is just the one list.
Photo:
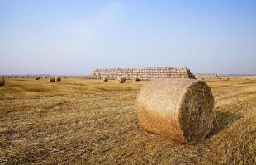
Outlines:
{"label": "long, largest stack of bales behind the foreground round bale", "polygon": [[195,78],[187,67],[147,67],[147,68],[106,68],[96,69],[92,72],[92,79],[107,77],[125,77],[126,79],[139,78],[140,80],[151,80],[155,78]]}

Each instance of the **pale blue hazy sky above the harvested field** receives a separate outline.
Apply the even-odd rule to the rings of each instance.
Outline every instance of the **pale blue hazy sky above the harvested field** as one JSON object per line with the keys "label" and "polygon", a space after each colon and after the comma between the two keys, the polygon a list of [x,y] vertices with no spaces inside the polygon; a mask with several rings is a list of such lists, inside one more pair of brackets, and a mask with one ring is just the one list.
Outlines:
{"label": "pale blue hazy sky above the harvested field", "polygon": [[0,0],[0,74],[256,73],[256,1]]}

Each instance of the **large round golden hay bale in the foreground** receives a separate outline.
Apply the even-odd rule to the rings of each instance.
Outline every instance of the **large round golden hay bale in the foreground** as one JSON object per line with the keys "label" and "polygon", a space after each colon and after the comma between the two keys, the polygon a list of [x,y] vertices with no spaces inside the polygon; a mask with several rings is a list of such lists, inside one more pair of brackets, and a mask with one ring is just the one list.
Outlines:
{"label": "large round golden hay bale in the foreground", "polygon": [[187,78],[155,79],[140,90],[138,120],[147,131],[194,144],[213,127],[214,98],[205,82]]}

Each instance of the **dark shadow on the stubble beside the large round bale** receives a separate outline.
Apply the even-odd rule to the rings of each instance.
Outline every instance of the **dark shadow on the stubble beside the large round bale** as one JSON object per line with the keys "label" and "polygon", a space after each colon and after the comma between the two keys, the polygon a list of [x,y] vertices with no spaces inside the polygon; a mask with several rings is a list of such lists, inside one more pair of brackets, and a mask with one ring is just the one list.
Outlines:
{"label": "dark shadow on the stubble beside the large round bale", "polygon": [[211,136],[218,134],[221,130],[229,128],[236,120],[243,117],[242,115],[225,111],[215,111],[215,115],[216,120],[214,121],[214,127],[206,138],[210,138]]}

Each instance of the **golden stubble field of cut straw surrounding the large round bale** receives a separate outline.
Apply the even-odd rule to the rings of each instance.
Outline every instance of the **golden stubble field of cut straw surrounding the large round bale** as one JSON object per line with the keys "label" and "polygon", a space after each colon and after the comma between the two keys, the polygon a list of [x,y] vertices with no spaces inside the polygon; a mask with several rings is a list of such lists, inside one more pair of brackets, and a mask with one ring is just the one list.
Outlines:
{"label": "golden stubble field of cut straw surrounding the large round bale", "polygon": [[196,145],[149,134],[135,99],[146,81],[8,79],[0,87],[0,163],[255,164],[256,78],[206,80],[215,128]]}

